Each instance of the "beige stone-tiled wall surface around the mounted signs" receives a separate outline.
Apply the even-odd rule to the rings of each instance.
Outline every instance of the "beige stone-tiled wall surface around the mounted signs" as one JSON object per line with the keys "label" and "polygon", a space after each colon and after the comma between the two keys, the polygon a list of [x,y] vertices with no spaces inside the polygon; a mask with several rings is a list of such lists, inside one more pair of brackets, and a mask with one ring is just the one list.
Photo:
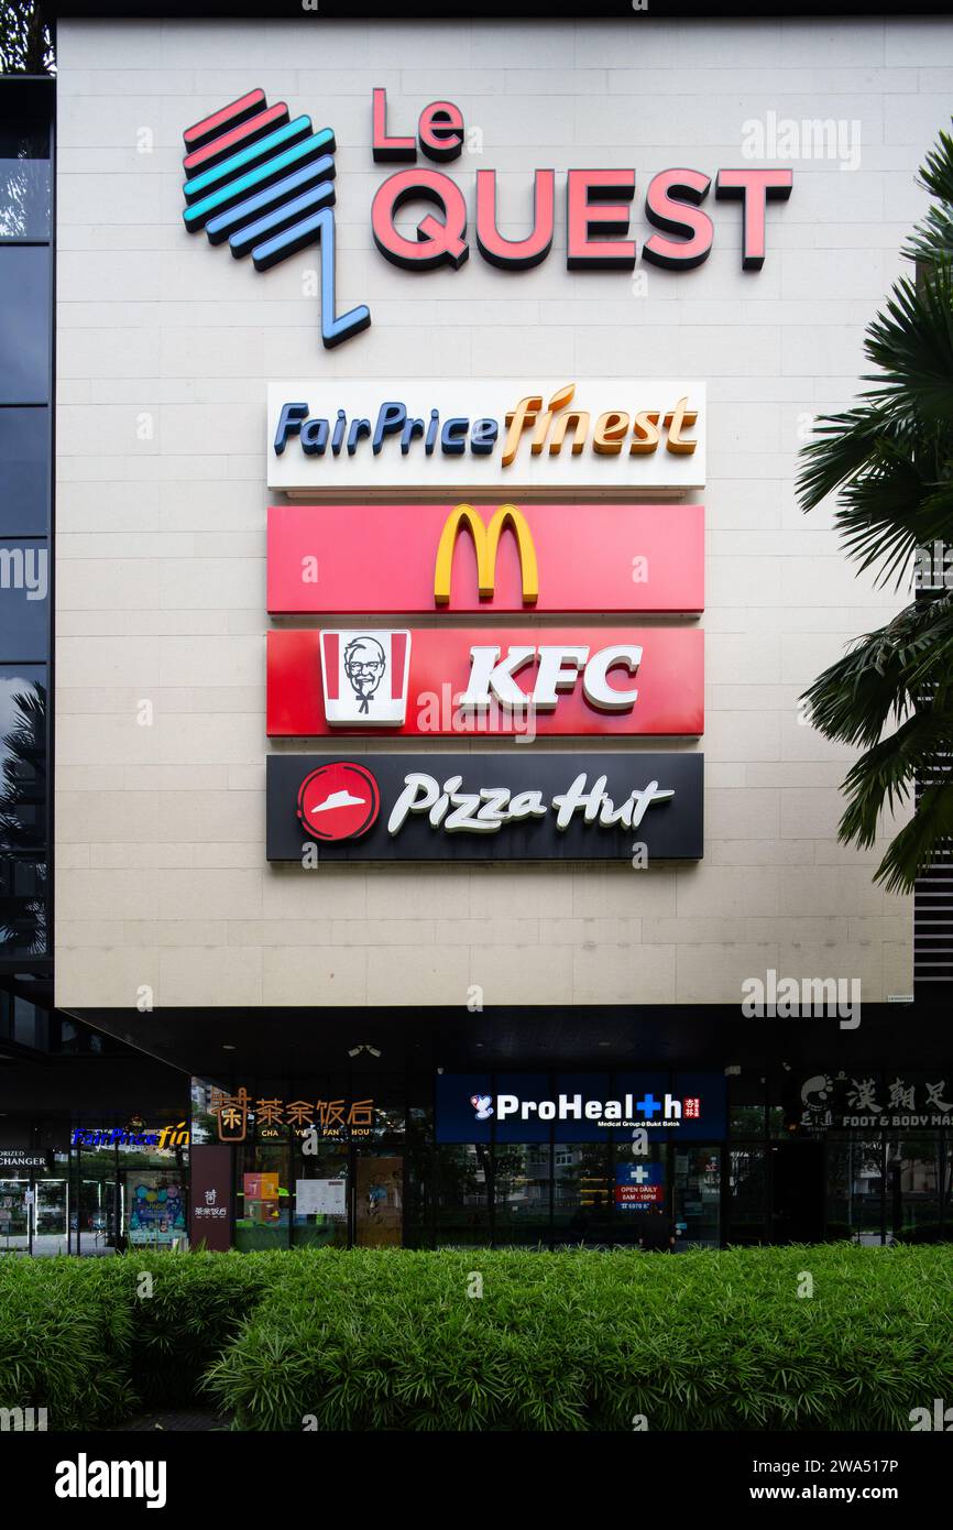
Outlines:
{"label": "beige stone-tiled wall surface around the mounted signs", "polygon": [[[805,421],[847,402],[861,337],[948,121],[953,26],[63,21],[58,158],[57,1002],[737,1002],[745,976],[912,990],[909,901],[835,843],[849,757],[797,698],[895,598],[857,580],[792,482]],[[262,86],[338,135],[335,352],[303,291],[181,223],[181,133]],[[413,278],[373,249],[370,92],[482,129],[514,210],[537,165],[742,162],[743,124],[860,122],[861,165],[794,162],[768,259],[737,213],[675,278],[476,254]],[[275,376],[701,376],[708,386],[707,848],[699,866],[330,868],[265,861],[265,386]],[[153,722],[139,724],[148,702]]]}

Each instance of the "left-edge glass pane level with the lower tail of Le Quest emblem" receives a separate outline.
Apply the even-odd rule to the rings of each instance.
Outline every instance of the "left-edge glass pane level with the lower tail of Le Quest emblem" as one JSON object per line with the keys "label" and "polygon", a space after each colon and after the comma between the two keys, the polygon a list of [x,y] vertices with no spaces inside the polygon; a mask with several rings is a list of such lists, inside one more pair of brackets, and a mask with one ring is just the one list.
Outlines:
{"label": "left-edge glass pane level with the lower tail of Le Quest emblem", "polygon": [[0,245],[0,404],[49,404],[49,249]]}

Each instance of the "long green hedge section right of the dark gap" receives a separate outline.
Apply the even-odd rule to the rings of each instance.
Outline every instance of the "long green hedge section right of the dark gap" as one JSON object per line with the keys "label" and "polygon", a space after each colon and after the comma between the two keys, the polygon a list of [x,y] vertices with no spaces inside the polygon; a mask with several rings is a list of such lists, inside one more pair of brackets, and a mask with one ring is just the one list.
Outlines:
{"label": "long green hedge section right of the dark gap", "polygon": [[951,1297],[932,1248],[301,1252],[207,1389],[239,1429],[896,1429],[953,1392]]}

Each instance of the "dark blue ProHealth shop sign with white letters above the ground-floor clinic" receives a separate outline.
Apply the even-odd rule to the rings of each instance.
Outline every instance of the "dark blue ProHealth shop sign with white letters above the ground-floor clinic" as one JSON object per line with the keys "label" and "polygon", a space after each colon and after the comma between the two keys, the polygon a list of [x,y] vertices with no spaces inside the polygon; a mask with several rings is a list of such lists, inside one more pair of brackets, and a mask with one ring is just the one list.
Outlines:
{"label": "dark blue ProHealth shop sign with white letters above the ground-floor clinic", "polygon": [[635,1131],[678,1141],[725,1137],[717,1073],[439,1074],[439,1143],[630,1141]]}

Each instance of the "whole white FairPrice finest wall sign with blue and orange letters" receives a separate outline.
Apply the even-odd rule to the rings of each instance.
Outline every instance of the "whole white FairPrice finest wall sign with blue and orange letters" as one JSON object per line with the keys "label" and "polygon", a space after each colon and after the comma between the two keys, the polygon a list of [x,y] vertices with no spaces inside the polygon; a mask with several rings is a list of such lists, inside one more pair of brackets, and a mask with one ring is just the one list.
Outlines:
{"label": "whole white FairPrice finest wall sign with blue and orange letters", "polygon": [[684,379],[286,379],[268,487],[289,496],[601,494],[705,483],[705,386]]}

